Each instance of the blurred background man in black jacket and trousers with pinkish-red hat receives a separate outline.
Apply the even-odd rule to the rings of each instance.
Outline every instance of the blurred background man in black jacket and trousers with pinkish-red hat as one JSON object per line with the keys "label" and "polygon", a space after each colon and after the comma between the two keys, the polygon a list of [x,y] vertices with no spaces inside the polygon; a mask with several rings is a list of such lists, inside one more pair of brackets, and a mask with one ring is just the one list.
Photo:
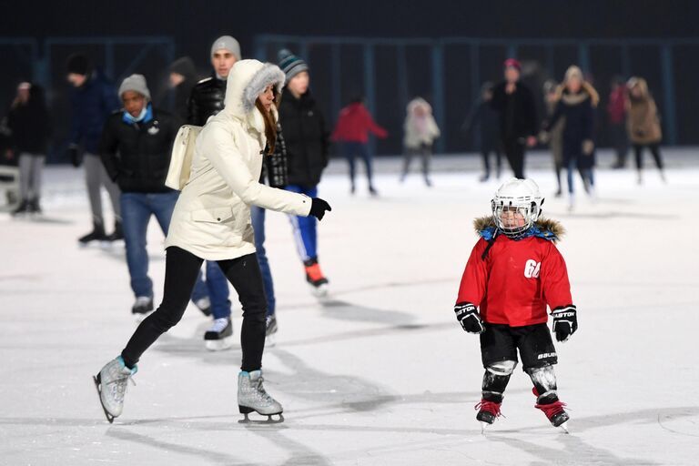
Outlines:
{"label": "blurred background man in black jacket and trousers with pinkish-red hat", "polygon": [[491,106],[500,113],[502,149],[514,177],[524,178],[524,149],[536,144],[536,106],[532,91],[520,82],[522,66],[505,60],[505,80],[492,90]]}

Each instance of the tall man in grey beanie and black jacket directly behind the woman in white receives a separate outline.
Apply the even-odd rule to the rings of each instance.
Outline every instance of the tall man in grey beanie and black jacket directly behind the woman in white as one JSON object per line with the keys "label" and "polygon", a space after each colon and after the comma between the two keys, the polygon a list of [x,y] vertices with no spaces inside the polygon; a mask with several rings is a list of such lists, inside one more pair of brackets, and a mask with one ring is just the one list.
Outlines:
{"label": "tall man in grey beanie and black jacket directly behind the woman in white", "polygon": [[[187,103],[187,123],[203,127],[208,117],[223,109],[226,97],[226,80],[230,68],[240,59],[238,41],[230,35],[218,37],[211,45],[211,76],[202,79],[192,88]],[[207,348],[216,350],[228,347],[233,326],[230,321],[230,300],[228,279],[214,261],[206,261],[208,296],[211,299],[211,313],[214,323],[204,334]],[[196,289],[195,289],[196,291]]]}

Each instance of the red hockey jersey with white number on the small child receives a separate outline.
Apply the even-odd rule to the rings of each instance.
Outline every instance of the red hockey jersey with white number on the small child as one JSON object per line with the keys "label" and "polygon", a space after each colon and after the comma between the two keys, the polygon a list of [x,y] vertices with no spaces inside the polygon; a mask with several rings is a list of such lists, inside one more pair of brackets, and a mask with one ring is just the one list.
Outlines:
{"label": "red hockey jersey with white number on the small child", "polygon": [[546,233],[549,238],[514,240],[499,235],[485,259],[488,242],[479,239],[463,271],[456,302],[478,306],[484,322],[511,327],[545,323],[546,306],[572,304],[565,261],[553,244],[555,236]]}

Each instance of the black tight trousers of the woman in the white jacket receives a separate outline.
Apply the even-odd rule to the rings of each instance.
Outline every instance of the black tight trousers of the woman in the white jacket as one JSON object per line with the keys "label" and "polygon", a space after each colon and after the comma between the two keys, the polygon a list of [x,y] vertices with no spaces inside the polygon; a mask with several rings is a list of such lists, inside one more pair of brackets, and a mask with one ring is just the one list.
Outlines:
{"label": "black tight trousers of the woman in the white jacket", "polygon": [[[202,258],[182,248],[167,248],[163,302],[141,322],[128,340],[127,347],[121,352],[127,367],[133,367],[160,335],[182,319],[202,262]],[[258,370],[262,367],[262,352],[265,349],[267,311],[258,258],[255,254],[248,254],[242,258],[218,260],[218,265],[238,292],[238,299],[243,307],[243,328],[240,332],[240,345],[243,350],[241,369],[248,372]]]}

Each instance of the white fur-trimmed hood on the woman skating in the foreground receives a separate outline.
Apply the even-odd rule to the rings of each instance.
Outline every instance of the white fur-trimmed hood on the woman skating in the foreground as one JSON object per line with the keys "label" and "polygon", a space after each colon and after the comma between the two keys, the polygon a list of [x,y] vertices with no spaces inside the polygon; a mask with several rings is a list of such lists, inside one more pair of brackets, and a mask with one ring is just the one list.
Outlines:
{"label": "white fur-trimmed hood on the woman skating in the foreground", "polygon": [[279,66],[258,60],[240,60],[230,69],[226,85],[223,111],[243,119],[255,109],[258,95],[270,84],[279,95],[286,76]]}

